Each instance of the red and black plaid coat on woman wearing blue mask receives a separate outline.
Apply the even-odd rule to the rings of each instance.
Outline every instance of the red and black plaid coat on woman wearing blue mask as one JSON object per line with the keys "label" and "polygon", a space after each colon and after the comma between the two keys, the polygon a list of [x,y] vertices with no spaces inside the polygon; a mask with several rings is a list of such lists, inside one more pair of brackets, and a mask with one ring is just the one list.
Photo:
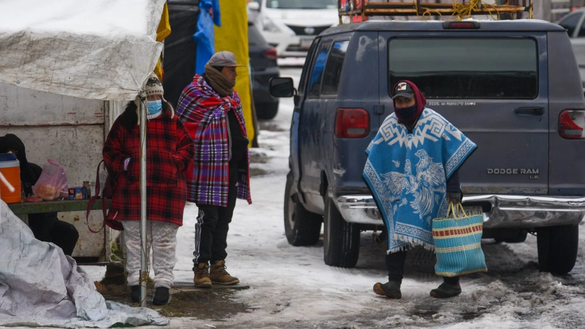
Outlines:
{"label": "red and black plaid coat on woman wearing blue mask", "polygon": [[[147,121],[146,133],[147,219],[183,225],[184,172],[195,155],[193,141],[170,111]],[[103,153],[106,165],[119,173],[108,221],[140,220],[140,126],[130,132],[116,119]],[[124,170],[128,157],[128,170]],[[109,223],[111,227],[115,224]]]}

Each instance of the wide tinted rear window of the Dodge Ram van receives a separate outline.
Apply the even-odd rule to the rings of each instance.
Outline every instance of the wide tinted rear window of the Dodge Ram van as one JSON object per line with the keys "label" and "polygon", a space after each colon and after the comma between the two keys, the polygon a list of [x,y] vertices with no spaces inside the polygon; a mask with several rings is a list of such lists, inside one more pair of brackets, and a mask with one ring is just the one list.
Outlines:
{"label": "wide tinted rear window of the Dodge Ram van", "polygon": [[411,80],[426,98],[538,95],[538,54],[529,38],[392,39],[388,54],[390,89]]}

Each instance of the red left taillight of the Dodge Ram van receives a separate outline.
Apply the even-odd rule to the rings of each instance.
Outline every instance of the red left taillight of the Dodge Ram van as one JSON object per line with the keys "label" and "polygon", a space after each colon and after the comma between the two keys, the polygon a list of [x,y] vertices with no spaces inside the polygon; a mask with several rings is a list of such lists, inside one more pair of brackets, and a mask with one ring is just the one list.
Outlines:
{"label": "red left taillight of the Dodge Ram van", "polygon": [[370,114],[363,108],[338,108],[335,137],[364,138],[370,135]]}

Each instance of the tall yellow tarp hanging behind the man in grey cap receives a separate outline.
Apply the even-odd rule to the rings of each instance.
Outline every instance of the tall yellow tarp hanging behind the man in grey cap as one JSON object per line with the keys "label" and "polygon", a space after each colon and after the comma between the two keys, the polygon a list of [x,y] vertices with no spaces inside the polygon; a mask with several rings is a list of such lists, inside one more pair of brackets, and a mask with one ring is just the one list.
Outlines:
{"label": "tall yellow tarp hanging behind the man in grey cap", "polygon": [[238,67],[238,78],[235,90],[242,100],[242,109],[246,119],[246,130],[250,139],[250,146],[254,139],[254,124],[252,119],[252,100],[249,74],[248,57],[248,18],[246,1],[219,0],[221,12],[221,28],[215,26],[215,52],[228,50],[236,55],[238,64],[246,67]]}

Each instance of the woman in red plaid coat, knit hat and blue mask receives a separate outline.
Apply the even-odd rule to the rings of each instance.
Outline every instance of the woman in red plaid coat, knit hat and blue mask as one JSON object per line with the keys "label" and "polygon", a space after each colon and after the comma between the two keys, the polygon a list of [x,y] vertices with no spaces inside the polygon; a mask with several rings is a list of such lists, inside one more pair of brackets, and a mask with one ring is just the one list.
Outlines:
{"label": "woman in red plaid coat, knit hat and blue mask", "polygon": [[[163,85],[152,74],[146,83],[146,196],[147,241],[153,248],[153,304],[168,301],[173,284],[177,230],[183,225],[187,194],[184,172],[193,161],[193,141],[173,107],[163,98]],[[129,102],[112,125],[104,145],[106,165],[116,173],[116,187],[108,224],[121,224],[127,249],[126,272],[132,300],[139,301],[140,288],[140,127],[137,102]],[[150,247],[150,246],[149,246]],[[149,247],[146,254],[149,255]]]}

